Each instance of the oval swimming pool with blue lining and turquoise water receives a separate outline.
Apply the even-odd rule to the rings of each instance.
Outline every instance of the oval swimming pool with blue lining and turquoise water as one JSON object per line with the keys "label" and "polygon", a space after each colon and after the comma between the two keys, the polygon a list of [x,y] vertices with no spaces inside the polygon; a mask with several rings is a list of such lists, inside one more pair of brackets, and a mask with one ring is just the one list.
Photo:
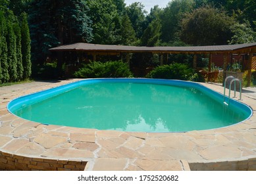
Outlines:
{"label": "oval swimming pool with blue lining and turquoise water", "polygon": [[248,106],[198,83],[174,80],[84,80],[12,101],[9,110],[42,124],[120,131],[192,131],[242,122]]}

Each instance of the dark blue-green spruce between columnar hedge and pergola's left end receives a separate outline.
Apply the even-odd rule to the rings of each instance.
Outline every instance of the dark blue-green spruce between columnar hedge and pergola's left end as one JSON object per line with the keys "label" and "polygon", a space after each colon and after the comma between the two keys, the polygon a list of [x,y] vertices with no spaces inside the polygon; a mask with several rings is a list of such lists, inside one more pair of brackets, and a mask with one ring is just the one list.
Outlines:
{"label": "dark blue-green spruce between columnar hedge and pergola's left end", "polygon": [[90,42],[92,39],[85,0],[34,0],[30,3],[28,20],[32,60],[40,64],[49,55],[51,47],[78,41]]}

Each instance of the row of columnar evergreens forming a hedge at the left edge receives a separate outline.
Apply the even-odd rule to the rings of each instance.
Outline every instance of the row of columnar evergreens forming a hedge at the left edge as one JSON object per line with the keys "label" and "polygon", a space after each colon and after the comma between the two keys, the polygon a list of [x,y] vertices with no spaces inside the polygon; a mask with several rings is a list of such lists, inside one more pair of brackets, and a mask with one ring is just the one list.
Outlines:
{"label": "row of columnar evergreens forming a hedge at the left edge", "polygon": [[[0,11],[0,83],[9,83],[24,80],[24,58],[22,53],[22,34],[26,30],[22,29],[22,24],[27,25],[26,19],[18,21],[10,10]],[[30,35],[27,34],[29,47],[23,48],[25,53],[30,53]],[[28,60],[31,66],[30,60]],[[31,73],[31,69],[30,69]],[[27,76],[28,79],[30,74]]]}

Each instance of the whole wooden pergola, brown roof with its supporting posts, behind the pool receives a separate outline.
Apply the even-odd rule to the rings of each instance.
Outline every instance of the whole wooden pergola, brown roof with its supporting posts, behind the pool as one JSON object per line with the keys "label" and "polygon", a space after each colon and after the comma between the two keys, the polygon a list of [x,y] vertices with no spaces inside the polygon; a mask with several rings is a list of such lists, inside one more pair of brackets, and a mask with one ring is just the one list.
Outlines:
{"label": "whole wooden pergola, brown roof with its supporting posts, behind the pool", "polygon": [[[49,51],[76,51],[87,53],[93,56],[93,60],[96,60],[97,55],[122,55],[123,53],[153,53],[161,56],[165,54],[192,54],[193,67],[196,67],[197,55],[199,54],[222,54],[224,56],[223,70],[226,72],[228,66],[228,55],[248,55],[248,79],[251,81],[251,66],[253,54],[256,53],[256,43],[245,43],[238,45],[209,45],[209,46],[192,46],[192,47],[136,47],[125,45],[97,45],[91,43],[74,43],[70,45],[61,45],[49,49]],[[130,62],[130,57],[127,55],[126,62]],[[211,62],[211,60],[210,60]],[[163,57],[161,57],[161,63],[163,63]],[[247,84],[249,85],[249,83]]]}

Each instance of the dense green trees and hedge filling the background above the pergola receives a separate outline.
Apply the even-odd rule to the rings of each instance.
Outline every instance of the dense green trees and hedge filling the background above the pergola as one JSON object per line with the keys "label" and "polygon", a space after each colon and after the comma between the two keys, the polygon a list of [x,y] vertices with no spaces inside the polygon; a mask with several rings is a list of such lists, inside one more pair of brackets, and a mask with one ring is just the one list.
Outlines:
{"label": "dense green trees and hedge filling the background above the pergola", "polygon": [[[0,0],[0,83],[24,80],[31,68],[38,74],[49,49],[69,43],[153,47],[256,41],[255,0],[172,0],[164,9],[143,8],[124,0]],[[132,62],[155,60],[134,55]]]}

